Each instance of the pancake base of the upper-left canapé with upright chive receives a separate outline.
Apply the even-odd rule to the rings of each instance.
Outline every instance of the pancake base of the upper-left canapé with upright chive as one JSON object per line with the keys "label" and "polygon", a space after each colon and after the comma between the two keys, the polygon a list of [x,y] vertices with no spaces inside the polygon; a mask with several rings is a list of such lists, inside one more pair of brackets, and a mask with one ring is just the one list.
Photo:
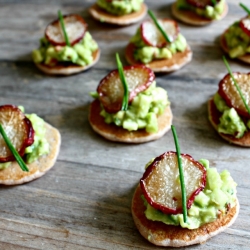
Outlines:
{"label": "pancake base of the upper-left canap\u00e9 with upright chive", "polygon": [[45,65],[43,63],[36,63],[36,66],[43,71],[46,74],[49,75],[72,75],[79,73],[81,71],[85,71],[92,67],[94,64],[96,64],[100,58],[100,49],[97,49],[95,52],[92,53],[93,55],[93,62],[86,65],[86,66],[80,66],[77,64],[68,64],[64,65],[63,63],[58,63],[57,65],[50,67],[48,65]]}

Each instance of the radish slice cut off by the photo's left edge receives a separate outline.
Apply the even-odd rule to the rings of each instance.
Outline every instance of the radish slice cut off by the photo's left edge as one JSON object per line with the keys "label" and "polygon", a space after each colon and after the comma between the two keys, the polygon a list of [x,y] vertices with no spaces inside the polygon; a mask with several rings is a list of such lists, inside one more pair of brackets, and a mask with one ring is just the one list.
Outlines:
{"label": "radish slice cut off by the photo's left edge", "polygon": [[[20,156],[34,142],[35,131],[30,120],[14,105],[0,106],[0,123]],[[15,157],[0,135],[0,162],[14,161]]]}

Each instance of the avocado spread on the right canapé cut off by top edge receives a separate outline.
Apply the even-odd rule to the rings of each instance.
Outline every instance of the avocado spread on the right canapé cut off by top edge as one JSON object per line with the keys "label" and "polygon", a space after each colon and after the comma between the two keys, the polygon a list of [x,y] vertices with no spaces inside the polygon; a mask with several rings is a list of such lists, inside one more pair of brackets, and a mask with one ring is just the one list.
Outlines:
{"label": "avocado spread on the right canap\u00e9 cut off by top edge", "polygon": [[225,0],[219,1],[215,6],[208,5],[206,8],[196,8],[186,0],[177,0],[177,8],[180,10],[191,10],[199,16],[203,16],[209,19],[220,19],[221,14],[224,11]]}

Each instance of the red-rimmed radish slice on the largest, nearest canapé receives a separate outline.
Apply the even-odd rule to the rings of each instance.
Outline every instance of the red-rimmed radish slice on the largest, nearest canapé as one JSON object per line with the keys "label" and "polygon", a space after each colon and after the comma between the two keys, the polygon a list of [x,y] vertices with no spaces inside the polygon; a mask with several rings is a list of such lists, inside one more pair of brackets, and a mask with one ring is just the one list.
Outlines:
{"label": "red-rimmed radish slice on the largest, nearest canap\u00e9", "polygon": [[[195,197],[205,188],[206,169],[190,155],[181,154],[181,159],[189,209]],[[155,158],[146,169],[140,185],[152,207],[166,214],[182,213],[182,193],[175,152],[166,152]]]}

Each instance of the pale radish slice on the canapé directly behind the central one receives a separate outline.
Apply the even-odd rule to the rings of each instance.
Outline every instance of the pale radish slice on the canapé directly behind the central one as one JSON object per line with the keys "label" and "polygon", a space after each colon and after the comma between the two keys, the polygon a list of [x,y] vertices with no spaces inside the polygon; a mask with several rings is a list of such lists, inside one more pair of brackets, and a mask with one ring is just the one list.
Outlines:
{"label": "pale radish slice on the canap\u00e9 directly behind the central one", "polygon": [[[170,19],[161,19],[158,20],[158,22],[169,37],[170,41],[173,42],[179,34],[179,27],[177,22]],[[163,37],[159,29],[152,21],[144,21],[141,24],[140,29],[142,39],[147,45],[160,48],[168,44],[168,41],[166,41],[166,39]]]}

